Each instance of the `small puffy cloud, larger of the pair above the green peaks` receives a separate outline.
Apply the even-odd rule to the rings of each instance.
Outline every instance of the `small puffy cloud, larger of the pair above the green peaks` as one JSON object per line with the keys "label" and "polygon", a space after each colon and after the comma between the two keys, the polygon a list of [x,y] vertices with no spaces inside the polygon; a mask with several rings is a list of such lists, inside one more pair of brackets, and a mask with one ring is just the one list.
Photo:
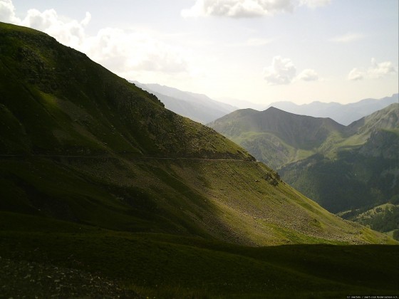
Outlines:
{"label": "small puffy cloud, larger of the pair above the green peaks", "polygon": [[289,84],[294,79],[296,68],[289,58],[274,56],[271,65],[264,68],[264,80],[268,85]]}

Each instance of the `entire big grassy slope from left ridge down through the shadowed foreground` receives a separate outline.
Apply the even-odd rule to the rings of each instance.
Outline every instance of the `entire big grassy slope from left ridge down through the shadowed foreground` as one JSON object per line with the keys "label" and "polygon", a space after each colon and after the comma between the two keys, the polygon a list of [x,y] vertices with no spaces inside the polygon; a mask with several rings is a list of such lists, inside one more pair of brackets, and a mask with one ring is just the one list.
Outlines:
{"label": "entire big grassy slope from left ridge down through the shadowed foreground", "polygon": [[[43,33],[1,23],[0,45],[2,293],[398,289],[396,246],[348,246],[392,239],[329,214],[241,147]],[[247,247],[316,243],[341,246]],[[367,265],[378,276],[364,271],[368,256],[380,256]],[[339,275],[353,267],[360,278]]]}

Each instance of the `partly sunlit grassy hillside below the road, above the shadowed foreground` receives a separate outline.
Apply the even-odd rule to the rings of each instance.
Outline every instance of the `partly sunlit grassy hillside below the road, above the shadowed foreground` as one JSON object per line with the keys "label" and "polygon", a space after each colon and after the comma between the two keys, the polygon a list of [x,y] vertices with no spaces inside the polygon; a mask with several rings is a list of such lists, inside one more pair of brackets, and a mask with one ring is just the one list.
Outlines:
{"label": "partly sunlit grassy hillside below the road, above the shadowed foreground", "polygon": [[242,161],[9,157],[0,160],[0,208],[247,245],[365,242],[360,228],[284,182],[270,184],[270,172]]}

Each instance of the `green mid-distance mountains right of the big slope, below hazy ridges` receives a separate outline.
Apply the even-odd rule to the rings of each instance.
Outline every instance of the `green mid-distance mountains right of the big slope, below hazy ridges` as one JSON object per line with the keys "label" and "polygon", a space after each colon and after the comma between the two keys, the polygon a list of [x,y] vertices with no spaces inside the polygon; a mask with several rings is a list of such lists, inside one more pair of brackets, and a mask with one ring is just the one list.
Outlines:
{"label": "green mid-distance mountains right of the big slope, below hazy ridges", "polygon": [[398,103],[348,126],[274,107],[237,110],[209,126],[329,211],[375,206],[399,194]]}

